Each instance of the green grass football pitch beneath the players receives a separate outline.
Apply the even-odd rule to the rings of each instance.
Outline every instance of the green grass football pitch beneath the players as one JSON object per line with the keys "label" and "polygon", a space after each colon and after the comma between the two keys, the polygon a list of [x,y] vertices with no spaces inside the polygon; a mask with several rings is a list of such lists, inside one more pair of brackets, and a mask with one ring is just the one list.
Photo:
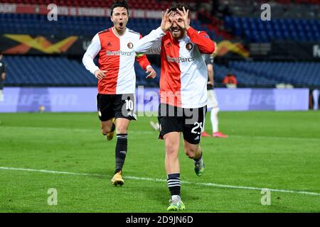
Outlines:
{"label": "green grass football pitch beneath the players", "polygon": [[[181,146],[186,212],[320,212],[320,111],[219,119],[229,138],[201,139],[205,175]],[[150,120],[131,123],[125,184],[114,187],[116,139],[105,140],[96,113],[0,114],[0,212],[166,212],[164,142]]]}

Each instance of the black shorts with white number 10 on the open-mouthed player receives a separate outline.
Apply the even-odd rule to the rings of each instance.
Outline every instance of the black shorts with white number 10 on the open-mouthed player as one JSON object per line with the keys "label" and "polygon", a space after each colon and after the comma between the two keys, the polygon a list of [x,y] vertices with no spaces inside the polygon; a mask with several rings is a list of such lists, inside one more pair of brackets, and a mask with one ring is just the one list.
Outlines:
{"label": "black shorts with white number 10 on the open-mouthed player", "polygon": [[111,118],[137,120],[134,94],[97,94],[97,111],[100,121]]}

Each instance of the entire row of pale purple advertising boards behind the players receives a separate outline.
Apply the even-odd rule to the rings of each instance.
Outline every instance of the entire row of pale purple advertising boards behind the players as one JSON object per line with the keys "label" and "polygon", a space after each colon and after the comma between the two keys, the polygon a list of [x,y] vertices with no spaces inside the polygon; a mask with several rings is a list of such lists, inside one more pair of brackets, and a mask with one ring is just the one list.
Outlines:
{"label": "entire row of pale purple advertising boards behind the players", "polygon": [[[309,89],[215,89],[221,111],[306,111]],[[95,87],[5,87],[0,112],[92,112],[96,107]],[[136,90],[138,116],[158,111],[159,89]],[[153,114],[152,114],[153,113]]]}

